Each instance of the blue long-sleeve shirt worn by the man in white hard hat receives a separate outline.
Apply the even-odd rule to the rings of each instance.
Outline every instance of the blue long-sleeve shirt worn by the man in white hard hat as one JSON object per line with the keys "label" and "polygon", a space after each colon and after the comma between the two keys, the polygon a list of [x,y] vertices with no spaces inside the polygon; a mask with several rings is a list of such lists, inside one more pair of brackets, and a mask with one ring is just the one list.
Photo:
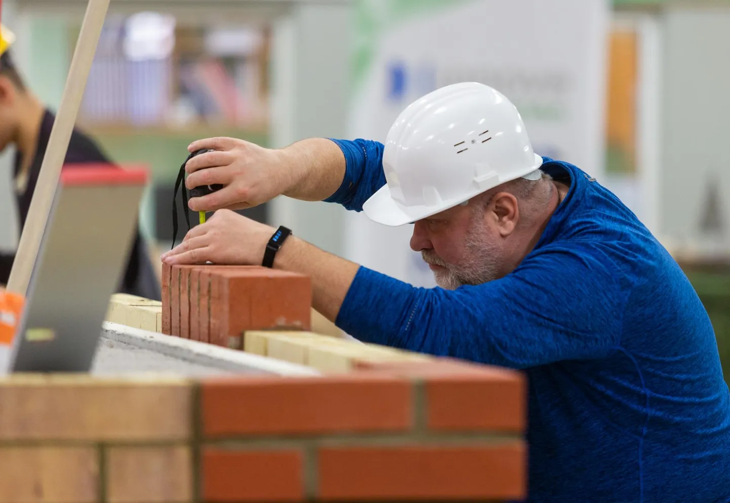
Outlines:
{"label": "blue long-sleeve shirt worn by the man in white hard hat", "polygon": [[[334,140],[361,211],[383,145]],[[730,502],[730,392],[696,292],[609,190],[569,163],[566,198],[518,268],[456,290],[360,268],[337,325],[366,342],[524,370],[529,501]]]}

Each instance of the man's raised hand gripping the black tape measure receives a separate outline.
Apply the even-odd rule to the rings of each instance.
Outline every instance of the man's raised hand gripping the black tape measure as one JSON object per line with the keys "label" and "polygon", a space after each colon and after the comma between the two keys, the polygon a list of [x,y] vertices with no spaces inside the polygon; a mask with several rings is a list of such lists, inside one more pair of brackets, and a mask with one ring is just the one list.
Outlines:
{"label": "man's raised hand gripping the black tape measure", "polygon": [[193,141],[190,152],[214,149],[196,155],[185,165],[188,189],[221,184],[223,189],[201,198],[191,198],[193,211],[220,208],[244,209],[258,206],[282,195],[297,183],[295,168],[285,162],[283,151],[266,149],[234,138],[210,138]]}

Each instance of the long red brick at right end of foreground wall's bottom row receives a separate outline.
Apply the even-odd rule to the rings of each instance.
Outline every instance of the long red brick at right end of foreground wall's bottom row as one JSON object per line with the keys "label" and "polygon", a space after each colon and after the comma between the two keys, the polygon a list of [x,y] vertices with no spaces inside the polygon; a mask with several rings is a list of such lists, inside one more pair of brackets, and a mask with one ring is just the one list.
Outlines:
{"label": "long red brick at right end of foreground wall's bottom row", "polygon": [[521,442],[321,448],[318,501],[522,499]]}

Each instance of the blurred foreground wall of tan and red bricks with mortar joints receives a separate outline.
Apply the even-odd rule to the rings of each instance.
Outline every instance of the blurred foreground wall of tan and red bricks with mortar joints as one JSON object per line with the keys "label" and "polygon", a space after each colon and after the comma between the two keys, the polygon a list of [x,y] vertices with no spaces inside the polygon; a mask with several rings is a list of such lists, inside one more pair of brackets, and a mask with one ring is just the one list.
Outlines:
{"label": "blurred foreground wall of tan and red bricks with mortar joints", "polygon": [[349,375],[0,380],[0,502],[520,499],[525,386],[449,359]]}

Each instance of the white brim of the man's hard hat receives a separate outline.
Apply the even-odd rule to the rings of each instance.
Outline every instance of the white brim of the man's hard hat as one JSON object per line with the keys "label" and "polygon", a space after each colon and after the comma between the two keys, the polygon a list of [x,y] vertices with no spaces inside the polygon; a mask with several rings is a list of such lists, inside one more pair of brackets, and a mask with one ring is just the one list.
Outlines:
{"label": "white brim of the man's hard hat", "polygon": [[[538,171],[541,165],[542,157],[535,154],[535,164],[531,166],[524,175],[518,176],[518,178],[526,178],[529,180],[539,179],[542,176],[542,173]],[[466,194],[458,200],[445,201],[439,206],[404,206],[393,199],[388,184],[385,184],[365,201],[363,204],[363,212],[366,217],[371,219],[373,222],[388,225],[389,227],[399,227],[400,225],[412,224],[420,219],[432,217],[437,213],[441,213],[442,211],[464,203],[464,201],[467,201],[482,192],[486,192],[486,190],[489,190],[489,188]]]}

